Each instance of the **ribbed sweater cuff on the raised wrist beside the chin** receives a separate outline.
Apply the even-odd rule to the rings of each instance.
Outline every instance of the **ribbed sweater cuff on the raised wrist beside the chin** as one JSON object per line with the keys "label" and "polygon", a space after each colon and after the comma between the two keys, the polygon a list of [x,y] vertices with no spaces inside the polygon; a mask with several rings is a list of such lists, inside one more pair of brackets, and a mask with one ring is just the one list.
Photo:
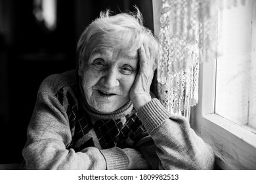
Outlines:
{"label": "ribbed sweater cuff on the raised wrist beside the chin", "polygon": [[156,127],[167,120],[167,118],[173,116],[161,105],[158,99],[152,99],[149,103],[140,107],[137,115],[148,133],[151,133]]}

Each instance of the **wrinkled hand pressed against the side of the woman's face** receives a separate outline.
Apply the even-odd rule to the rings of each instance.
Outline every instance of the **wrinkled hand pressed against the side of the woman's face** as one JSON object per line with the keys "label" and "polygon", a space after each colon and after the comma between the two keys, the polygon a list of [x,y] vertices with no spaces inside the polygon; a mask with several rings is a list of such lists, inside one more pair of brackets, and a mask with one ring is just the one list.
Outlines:
{"label": "wrinkled hand pressed against the side of the woman's face", "polygon": [[130,90],[130,99],[136,110],[151,101],[150,85],[154,76],[155,58],[150,52],[150,48],[144,44],[139,48],[140,69]]}

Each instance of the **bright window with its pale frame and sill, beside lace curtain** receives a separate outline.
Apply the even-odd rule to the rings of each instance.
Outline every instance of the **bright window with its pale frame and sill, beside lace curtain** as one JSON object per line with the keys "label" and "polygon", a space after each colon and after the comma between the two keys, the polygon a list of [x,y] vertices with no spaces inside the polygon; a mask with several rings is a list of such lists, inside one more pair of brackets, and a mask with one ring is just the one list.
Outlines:
{"label": "bright window with its pale frame and sill, beside lace curtain", "polygon": [[221,168],[255,169],[256,1],[224,8],[218,18],[217,58],[200,67],[195,128]]}

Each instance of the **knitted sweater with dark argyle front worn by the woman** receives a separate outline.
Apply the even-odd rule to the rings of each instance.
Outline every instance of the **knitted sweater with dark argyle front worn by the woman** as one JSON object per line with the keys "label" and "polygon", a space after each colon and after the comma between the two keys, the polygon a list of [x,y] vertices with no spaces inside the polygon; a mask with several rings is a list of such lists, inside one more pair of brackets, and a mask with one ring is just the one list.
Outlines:
{"label": "knitted sweater with dark argyle front worn by the woman", "polygon": [[138,112],[128,101],[102,114],[85,101],[77,71],[43,81],[22,151],[23,169],[127,169],[123,148],[139,150],[152,169],[213,168],[211,147],[158,99]]}

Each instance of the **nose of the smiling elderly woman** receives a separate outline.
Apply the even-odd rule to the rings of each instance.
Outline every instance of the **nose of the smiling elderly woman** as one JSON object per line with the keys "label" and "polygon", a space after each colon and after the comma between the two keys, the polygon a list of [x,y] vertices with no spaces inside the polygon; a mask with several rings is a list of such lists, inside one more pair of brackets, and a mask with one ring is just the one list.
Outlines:
{"label": "nose of the smiling elderly woman", "polygon": [[119,86],[119,75],[115,69],[110,69],[101,78],[101,83],[108,89],[115,88]]}

